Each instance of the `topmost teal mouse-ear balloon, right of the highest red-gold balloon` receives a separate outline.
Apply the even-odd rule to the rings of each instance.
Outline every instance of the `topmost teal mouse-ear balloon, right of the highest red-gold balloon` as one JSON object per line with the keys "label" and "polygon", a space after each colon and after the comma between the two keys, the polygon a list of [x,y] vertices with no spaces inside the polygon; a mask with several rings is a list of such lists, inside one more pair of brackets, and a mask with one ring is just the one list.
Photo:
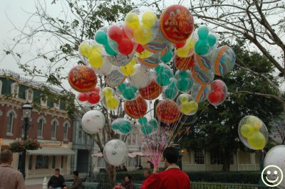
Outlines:
{"label": "topmost teal mouse-ear balloon, right of the highest red-gold balloon", "polygon": [[199,37],[195,43],[195,52],[198,55],[207,55],[214,50],[214,45],[217,43],[217,37],[211,33],[207,26],[200,26],[197,31]]}

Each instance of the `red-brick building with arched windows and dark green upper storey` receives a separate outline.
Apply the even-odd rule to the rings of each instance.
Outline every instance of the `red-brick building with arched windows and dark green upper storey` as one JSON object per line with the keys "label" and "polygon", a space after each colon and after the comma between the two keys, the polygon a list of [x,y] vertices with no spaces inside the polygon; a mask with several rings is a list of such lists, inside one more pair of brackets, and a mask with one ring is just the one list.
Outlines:
{"label": "red-brick building with arched windows and dark green upper storey", "polygon": [[[32,82],[9,70],[0,70],[0,151],[9,144],[24,139],[22,106],[25,102],[40,104],[33,108],[28,139],[38,139],[42,148],[27,151],[26,178],[53,175],[55,168],[61,174],[71,173],[73,121],[68,119],[64,104],[44,99],[42,83]],[[49,87],[53,92],[60,91]],[[21,153],[14,153],[12,166],[19,168]]]}

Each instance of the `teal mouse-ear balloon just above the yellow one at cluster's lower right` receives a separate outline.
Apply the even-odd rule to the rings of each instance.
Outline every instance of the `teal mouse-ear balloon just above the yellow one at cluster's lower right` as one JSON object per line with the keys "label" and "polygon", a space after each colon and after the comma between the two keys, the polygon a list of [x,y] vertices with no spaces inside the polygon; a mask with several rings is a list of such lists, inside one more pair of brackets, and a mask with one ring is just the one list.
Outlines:
{"label": "teal mouse-ear balloon just above the yellow one at cluster's lower right", "polygon": [[177,80],[175,84],[179,92],[188,93],[192,90],[194,82],[190,70],[177,70],[174,77]]}

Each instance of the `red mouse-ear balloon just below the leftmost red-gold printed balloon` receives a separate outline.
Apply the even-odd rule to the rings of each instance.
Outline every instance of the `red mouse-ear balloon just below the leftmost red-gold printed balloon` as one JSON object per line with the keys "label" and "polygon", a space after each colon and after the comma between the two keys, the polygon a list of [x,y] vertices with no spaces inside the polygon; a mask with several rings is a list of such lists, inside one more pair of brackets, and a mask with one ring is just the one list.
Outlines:
{"label": "red mouse-ear balloon just below the leftmost red-gold printed balloon", "polygon": [[80,102],[89,102],[90,104],[98,104],[101,101],[101,89],[100,87],[95,87],[90,92],[79,93],[78,100]]}

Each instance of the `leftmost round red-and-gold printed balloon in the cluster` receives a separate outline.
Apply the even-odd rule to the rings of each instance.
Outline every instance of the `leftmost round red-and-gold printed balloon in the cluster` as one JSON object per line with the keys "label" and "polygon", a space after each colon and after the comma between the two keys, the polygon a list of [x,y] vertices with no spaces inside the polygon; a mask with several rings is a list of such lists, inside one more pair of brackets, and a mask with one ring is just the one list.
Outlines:
{"label": "leftmost round red-and-gold printed balloon in the cluster", "polygon": [[97,85],[97,76],[86,65],[76,65],[68,72],[68,82],[73,90],[88,92]]}

